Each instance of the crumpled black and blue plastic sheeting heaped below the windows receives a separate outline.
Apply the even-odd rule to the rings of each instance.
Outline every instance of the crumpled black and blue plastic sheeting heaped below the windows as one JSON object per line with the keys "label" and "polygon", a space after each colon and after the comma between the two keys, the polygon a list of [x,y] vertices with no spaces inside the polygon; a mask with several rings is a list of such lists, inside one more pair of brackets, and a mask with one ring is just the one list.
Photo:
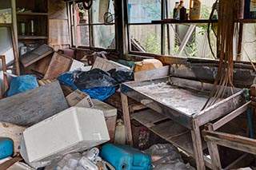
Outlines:
{"label": "crumpled black and blue plastic sheeting heaped below the windows", "polygon": [[57,79],[73,90],[79,89],[92,98],[104,101],[115,93],[120,83],[134,80],[134,73],[122,68],[111,69],[108,72],[102,69],[91,69],[87,72],[62,73]]}

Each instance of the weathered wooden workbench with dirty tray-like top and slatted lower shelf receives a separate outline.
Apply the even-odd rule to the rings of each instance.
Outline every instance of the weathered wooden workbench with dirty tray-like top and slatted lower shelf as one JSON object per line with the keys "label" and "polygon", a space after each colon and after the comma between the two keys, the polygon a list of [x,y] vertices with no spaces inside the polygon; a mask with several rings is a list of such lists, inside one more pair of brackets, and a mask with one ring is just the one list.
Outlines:
{"label": "weathered wooden workbench with dirty tray-like top and slatted lower shelf", "polygon": [[[246,102],[243,90],[238,89],[233,95],[201,110],[211,88],[211,84],[177,77],[123,83],[121,97],[127,144],[133,145],[130,127],[130,117],[133,117],[158,136],[193,156],[197,169],[205,169],[205,165],[211,168],[210,159],[203,154],[206,144],[202,141],[200,126],[225,116]],[[128,97],[152,110],[130,116]]]}

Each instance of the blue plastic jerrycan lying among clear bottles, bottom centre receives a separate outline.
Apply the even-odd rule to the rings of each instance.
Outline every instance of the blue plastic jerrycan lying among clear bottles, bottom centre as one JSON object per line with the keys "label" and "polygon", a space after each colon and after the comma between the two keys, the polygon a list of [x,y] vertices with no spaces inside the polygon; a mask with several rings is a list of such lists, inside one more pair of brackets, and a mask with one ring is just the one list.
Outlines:
{"label": "blue plastic jerrycan lying among clear bottles, bottom centre", "polygon": [[151,169],[151,157],[137,148],[123,144],[105,144],[101,157],[116,170],[148,170]]}

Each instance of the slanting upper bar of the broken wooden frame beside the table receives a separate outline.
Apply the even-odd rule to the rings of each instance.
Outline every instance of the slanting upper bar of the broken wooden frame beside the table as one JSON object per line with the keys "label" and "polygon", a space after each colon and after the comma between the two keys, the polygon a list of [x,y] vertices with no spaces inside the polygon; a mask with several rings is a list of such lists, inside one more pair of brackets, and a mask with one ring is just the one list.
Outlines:
{"label": "slanting upper bar of the broken wooden frame beside the table", "polygon": [[251,101],[247,102],[245,105],[242,105],[238,109],[235,109],[232,113],[226,115],[225,117],[222,117],[222,119],[216,121],[213,125],[213,131],[216,129],[222,127],[222,125],[225,125],[227,122],[233,120],[235,117],[238,117],[240,114],[246,112],[248,107],[250,106]]}

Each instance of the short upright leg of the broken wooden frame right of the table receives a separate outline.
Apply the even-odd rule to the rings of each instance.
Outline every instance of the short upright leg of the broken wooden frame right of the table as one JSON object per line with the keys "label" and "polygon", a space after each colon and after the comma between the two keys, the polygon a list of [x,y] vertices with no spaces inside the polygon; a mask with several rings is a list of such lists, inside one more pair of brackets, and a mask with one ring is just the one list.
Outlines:
{"label": "short upright leg of the broken wooden frame right of the table", "polygon": [[[212,124],[206,126],[207,130],[213,131],[214,127]],[[211,166],[213,170],[222,169],[221,160],[218,154],[218,146],[214,142],[207,141],[207,147],[210,153]]]}

